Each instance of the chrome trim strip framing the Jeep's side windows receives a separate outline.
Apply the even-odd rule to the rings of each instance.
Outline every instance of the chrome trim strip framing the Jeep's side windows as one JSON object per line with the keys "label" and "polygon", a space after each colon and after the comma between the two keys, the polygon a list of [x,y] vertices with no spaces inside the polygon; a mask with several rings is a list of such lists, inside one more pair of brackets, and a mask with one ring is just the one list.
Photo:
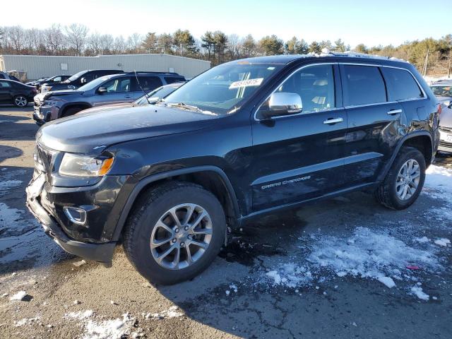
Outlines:
{"label": "chrome trim strip framing the Jeep's side windows", "polygon": [[[352,66],[371,66],[371,67],[388,67],[390,69],[401,69],[403,71],[407,71],[408,73],[410,73],[410,75],[412,76],[413,79],[415,79],[417,85],[419,86],[420,90],[422,91],[422,95],[424,95],[423,97],[416,97],[416,98],[412,98],[412,99],[404,99],[404,100],[396,100],[396,101],[385,101],[385,102],[375,102],[375,103],[371,103],[371,104],[364,104],[364,105],[348,105],[348,106],[344,106],[344,107],[333,107],[331,109],[322,109],[321,111],[317,111],[317,112],[300,112],[297,114],[286,114],[286,115],[280,115],[278,117],[271,117],[270,119],[280,119],[280,118],[285,118],[285,117],[295,117],[297,115],[302,115],[302,114],[313,114],[313,113],[323,113],[323,112],[330,112],[330,111],[335,111],[338,109],[351,109],[351,108],[357,108],[357,107],[368,107],[368,106],[375,106],[375,105],[383,105],[383,104],[395,104],[398,102],[408,102],[408,101],[416,101],[416,100],[426,100],[428,98],[427,93],[425,93],[424,88],[422,88],[422,85],[419,83],[419,81],[417,81],[417,78],[414,76],[414,74],[412,73],[412,71],[410,71],[409,69],[404,69],[403,67],[398,67],[398,66],[387,66],[387,65],[381,65],[381,64],[360,64],[360,63],[355,63],[355,62],[347,62],[347,61],[337,61],[337,62],[316,62],[315,64],[308,64],[308,65],[304,65],[299,67],[298,69],[296,69],[295,71],[293,71],[292,73],[290,73],[289,76],[287,76],[283,81],[281,81],[276,88],[272,91],[272,93],[270,93],[270,95],[268,95],[266,97],[265,100],[263,100],[263,102],[261,103],[261,105],[259,105],[257,107],[257,109],[254,111],[254,121],[264,121],[264,120],[268,120],[268,119],[257,119],[256,115],[259,109],[261,109],[261,106],[264,104],[264,102],[266,102],[270,96],[276,92],[276,90],[278,90],[278,88],[280,88],[291,76],[293,76],[295,73],[297,73],[298,71],[300,71],[301,69],[305,69],[309,66],[319,66],[319,65],[352,65]],[[381,75],[381,77],[383,78],[383,75]],[[384,80],[384,78],[383,78]],[[340,84],[342,87],[342,83]],[[386,88],[386,83],[385,83],[385,88]]]}

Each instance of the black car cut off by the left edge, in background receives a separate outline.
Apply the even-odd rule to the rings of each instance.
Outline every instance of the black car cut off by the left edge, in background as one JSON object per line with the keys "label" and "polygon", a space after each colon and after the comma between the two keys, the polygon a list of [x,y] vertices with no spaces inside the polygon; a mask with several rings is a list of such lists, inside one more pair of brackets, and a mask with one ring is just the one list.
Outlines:
{"label": "black car cut off by the left edge, in background", "polygon": [[0,103],[25,107],[32,102],[37,90],[33,86],[18,81],[0,79]]}

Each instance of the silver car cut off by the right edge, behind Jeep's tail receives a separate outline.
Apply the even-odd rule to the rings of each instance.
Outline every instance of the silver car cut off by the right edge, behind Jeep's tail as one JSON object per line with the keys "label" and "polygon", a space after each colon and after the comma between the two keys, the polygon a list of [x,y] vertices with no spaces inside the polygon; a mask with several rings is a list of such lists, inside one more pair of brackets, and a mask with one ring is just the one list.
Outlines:
{"label": "silver car cut off by the right edge, behind Jeep's tail", "polygon": [[430,88],[441,103],[438,150],[452,153],[452,80],[436,81]]}

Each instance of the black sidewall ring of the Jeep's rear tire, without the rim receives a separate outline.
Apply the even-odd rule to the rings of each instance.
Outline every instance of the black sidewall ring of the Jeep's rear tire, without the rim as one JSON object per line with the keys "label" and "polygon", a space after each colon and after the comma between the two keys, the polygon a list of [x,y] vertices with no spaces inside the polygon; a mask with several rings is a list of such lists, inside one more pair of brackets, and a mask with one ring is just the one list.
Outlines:
{"label": "black sidewall ring of the Jeep's rear tire, without the rim", "polygon": [[[420,166],[420,182],[417,185],[417,190],[415,191],[415,194],[413,194],[411,196],[411,198],[409,198],[408,200],[401,200],[398,197],[397,191],[396,191],[397,175],[398,175],[398,172],[400,171],[400,168],[403,166],[403,164],[405,164],[405,162],[407,162],[408,160],[411,160],[411,159],[416,160]],[[399,156],[396,159],[393,167],[391,168],[391,180],[388,183],[390,185],[389,186],[390,196],[391,196],[391,200],[392,200],[394,207],[396,207],[397,209],[407,208],[408,206],[411,206],[412,203],[414,203],[416,201],[417,197],[420,195],[420,193],[422,191],[422,187],[424,186],[425,169],[426,169],[426,165],[425,165],[424,155],[422,155],[422,153],[420,153],[420,151],[415,148],[410,148],[408,150],[408,152]]]}

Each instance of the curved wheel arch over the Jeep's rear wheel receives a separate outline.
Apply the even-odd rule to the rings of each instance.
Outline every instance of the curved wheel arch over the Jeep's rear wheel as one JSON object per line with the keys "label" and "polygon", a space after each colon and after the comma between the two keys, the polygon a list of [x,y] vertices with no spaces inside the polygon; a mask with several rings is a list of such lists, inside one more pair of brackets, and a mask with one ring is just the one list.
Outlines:
{"label": "curved wheel arch over the Jeep's rear wheel", "polygon": [[391,160],[389,160],[386,163],[385,167],[381,171],[378,181],[381,181],[386,177],[386,174],[388,174],[389,169],[391,169],[394,160],[396,160],[396,157],[403,146],[417,148],[424,155],[426,166],[429,167],[429,165],[432,164],[433,162],[432,135],[428,131],[415,131],[410,134],[407,134],[399,141],[393,152],[393,155],[391,156]]}

